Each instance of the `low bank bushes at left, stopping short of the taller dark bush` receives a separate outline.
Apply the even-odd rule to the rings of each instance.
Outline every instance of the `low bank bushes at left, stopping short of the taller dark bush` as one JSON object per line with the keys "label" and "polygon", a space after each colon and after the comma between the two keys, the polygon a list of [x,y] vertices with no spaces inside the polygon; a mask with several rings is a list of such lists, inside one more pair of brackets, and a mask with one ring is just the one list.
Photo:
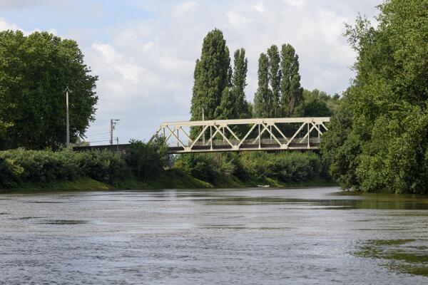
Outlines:
{"label": "low bank bushes at left, stopping short of the taller dark bush", "polygon": [[0,152],[0,187],[26,183],[48,185],[57,180],[91,177],[101,182],[123,180],[127,166],[115,152],[61,150],[6,150]]}

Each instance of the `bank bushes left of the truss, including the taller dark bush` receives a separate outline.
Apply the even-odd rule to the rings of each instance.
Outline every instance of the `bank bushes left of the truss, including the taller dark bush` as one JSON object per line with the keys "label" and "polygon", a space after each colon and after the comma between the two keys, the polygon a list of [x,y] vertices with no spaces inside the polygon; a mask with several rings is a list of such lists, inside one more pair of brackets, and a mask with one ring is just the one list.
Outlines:
{"label": "bank bushes left of the truss, including the taller dark bush", "polygon": [[161,139],[149,143],[133,140],[126,155],[108,150],[5,150],[0,151],[0,189],[83,177],[113,185],[131,178],[146,182],[158,175],[166,162]]}

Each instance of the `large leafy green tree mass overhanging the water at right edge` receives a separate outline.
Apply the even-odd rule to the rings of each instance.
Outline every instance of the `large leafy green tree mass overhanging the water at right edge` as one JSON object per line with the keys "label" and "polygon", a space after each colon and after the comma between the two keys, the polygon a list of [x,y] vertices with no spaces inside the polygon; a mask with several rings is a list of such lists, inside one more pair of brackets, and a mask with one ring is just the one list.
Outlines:
{"label": "large leafy green tree mass overhanging the water at right edge", "polygon": [[344,188],[428,192],[428,1],[389,0],[346,35],[357,76],[322,154]]}

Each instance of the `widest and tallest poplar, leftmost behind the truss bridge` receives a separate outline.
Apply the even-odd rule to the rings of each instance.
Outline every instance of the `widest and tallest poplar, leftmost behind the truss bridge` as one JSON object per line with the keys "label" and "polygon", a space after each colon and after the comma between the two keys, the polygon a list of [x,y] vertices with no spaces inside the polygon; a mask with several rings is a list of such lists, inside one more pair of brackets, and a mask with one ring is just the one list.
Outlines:
{"label": "widest and tallest poplar, leftmost behind the truss bridge", "polygon": [[215,28],[203,39],[202,54],[196,61],[193,85],[191,120],[215,118],[223,91],[230,87],[231,67],[229,49],[222,31]]}

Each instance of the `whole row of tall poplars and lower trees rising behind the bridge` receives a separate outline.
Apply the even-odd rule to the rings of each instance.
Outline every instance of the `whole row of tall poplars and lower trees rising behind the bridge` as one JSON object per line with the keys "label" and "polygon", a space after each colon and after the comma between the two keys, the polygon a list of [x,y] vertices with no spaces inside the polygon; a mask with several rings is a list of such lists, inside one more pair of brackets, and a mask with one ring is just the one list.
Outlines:
{"label": "whole row of tall poplars and lower trees rising behind the bridge", "polygon": [[[223,32],[217,28],[208,32],[203,39],[201,56],[195,63],[191,120],[317,116],[318,113],[331,115],[335,110],[335,104],[329,101],[335,102],[338,95],[332,98],[325,92],[302,88],[299,57],[288,43],[280,49],[272,45],[260,54],[258,88],[253,103],[245,98],[248,71],[245,48],[233,53],[233,68],[230,62]],[[312,110],[304,105],[306,99],[312,100]],[[319,108],[315,107],[315,101]]]}

